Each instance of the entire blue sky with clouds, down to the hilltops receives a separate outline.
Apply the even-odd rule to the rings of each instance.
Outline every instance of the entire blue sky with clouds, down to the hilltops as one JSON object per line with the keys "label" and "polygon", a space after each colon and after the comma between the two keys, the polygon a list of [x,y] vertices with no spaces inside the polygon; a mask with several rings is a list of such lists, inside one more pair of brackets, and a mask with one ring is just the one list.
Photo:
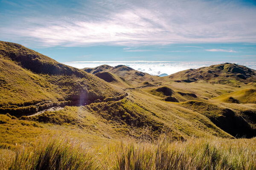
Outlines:
{"label": "entire blue sky with clouds, down to the hilltops", "polygon": [[0,40],[78,68],[256,69],[256,0],[0,0]]}

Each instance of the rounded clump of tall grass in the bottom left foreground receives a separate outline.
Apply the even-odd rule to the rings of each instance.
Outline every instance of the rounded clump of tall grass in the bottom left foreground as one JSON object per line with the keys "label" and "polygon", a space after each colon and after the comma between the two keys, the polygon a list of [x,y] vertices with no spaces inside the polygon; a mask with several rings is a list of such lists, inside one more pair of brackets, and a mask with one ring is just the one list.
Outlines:
{"label": "rounded clump of tall grass in the bottom left foreground", "polygon": [[96,157],[92,149],[64,137],[41,138],[34,147],[17,148],[9,157],[9,170],[92,170]]}

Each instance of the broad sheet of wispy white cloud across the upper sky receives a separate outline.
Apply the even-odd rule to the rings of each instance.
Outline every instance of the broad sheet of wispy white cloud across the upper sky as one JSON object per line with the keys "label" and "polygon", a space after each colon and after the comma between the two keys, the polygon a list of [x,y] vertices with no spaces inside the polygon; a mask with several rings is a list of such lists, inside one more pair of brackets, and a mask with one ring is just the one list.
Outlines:
{"label": "broad sheet of wispy white cloud across the upper sky", "polygon": [[256,8],[238,1],[78,2],[76,10],[61,6],[57,14],[46,17],[44,10],[49,11],[49,4],[40,4],[38,11],[32,10],[37,6],[25,4],[26,15],[0,13],[0,20],[6,20],[0,37],[44,46],[256,42]]}

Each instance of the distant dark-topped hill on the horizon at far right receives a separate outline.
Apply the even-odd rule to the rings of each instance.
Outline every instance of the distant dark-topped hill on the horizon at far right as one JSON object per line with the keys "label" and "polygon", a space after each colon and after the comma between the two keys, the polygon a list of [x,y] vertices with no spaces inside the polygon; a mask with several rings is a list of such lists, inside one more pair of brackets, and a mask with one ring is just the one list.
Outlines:
{"label": "distant dark-topped hill on the horizon at far right", "polygon": [[256,82],[256,71],[243,65],[224,63],[180,71],[169,78],[177,82],[204,80],[210,83],[249,83]]}

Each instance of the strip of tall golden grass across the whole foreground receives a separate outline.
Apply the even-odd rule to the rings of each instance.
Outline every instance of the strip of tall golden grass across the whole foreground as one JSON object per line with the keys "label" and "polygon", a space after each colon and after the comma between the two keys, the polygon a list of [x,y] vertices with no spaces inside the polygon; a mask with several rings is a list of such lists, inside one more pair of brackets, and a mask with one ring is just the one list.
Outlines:
{"label": "strip of tall golden grass across the whole foreground", "polygon": [[154,142],[119,139],[89,145],[67,136],[37,139],[33,147],[0,150],[0,169],[177,170],[256,169],[256,138],[191,138]]}

